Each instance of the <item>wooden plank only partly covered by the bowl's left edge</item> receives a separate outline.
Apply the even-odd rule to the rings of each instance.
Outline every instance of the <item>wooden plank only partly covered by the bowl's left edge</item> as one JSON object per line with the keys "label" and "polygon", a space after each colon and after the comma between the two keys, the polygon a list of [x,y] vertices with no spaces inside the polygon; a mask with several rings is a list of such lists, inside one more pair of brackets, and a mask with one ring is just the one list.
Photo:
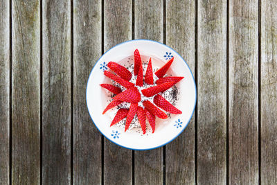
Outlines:
{"label": "wooden plank only partly covered by the bowl's left edge", "polygon": [[87,79],[101,55],[100,0],[73,1],[73,34],[73,184],[101,184],[101,134],[86,105]]}

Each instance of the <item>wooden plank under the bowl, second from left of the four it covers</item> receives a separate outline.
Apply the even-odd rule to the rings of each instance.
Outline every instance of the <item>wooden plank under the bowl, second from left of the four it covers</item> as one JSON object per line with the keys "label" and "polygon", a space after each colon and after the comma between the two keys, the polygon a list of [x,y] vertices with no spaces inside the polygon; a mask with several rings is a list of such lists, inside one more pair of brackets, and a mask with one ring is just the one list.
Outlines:
{"label": "wooden plank under the bowl, second from left of the four it covers", "polygon": [[[132,1],[104,1],[104,50],[132,39]],[[104,184],[132,184],[132,150],[104,139]]]}

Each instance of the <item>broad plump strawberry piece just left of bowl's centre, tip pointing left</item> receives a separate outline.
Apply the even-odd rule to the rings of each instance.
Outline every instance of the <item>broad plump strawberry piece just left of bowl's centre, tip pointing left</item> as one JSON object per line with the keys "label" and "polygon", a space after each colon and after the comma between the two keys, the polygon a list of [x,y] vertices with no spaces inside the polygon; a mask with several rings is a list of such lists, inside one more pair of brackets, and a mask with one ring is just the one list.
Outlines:
{"label": "broad plump strawberry piece just left of bowl's centre, tip pointing left", "polygon": [[114,100],[121,100],[129,103],[138,103],[141,101],[141,94],[136,87],[126,89],[122,93],[114,96]]}

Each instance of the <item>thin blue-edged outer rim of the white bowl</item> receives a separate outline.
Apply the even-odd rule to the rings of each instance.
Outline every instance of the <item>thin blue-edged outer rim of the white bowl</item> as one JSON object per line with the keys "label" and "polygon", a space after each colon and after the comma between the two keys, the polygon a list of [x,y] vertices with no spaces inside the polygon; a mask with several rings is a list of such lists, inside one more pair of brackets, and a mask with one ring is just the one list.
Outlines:
{"label": "thin blue-edged outer rim of the white bowl", "polygon": [[[115,46],[111,47],[111,49],[115,49],[117,46],[120,46],[121,44],[126,44],[127,42],[136,42],[136,41],[156,42],[156,43],[158,43],[158,44],[161,44],[161,45],[163,45],[163,46],[166,46],[168,49],[171,49],[172,51],[175,51],[174,49],[172,49],[170,46],[167,46],[166,44],[163,44],[163,43],[161,43],[161,42],[157,42],[157,41],[154,41],[154,40],[150,40],[150,39],[131,39],[131,40],[127,40],[127,41],[125,41],[125,42],[121,42],[121,43],[119,43],[119,44],[116,44]],[[100,57],[100,58],[97,60],[97,62],[93,65],[93,68],[91,69],[91,72],[89,73],[89,78],[87,79],[87,86],[86,86],[86,104],[87,104],[87,87],[88,87],[88,85],[89,85],[89,79],[91,78],[91,73],[92,73],[94,67],[96,67],[96,64],[97,64],[98,62],[100,62],[100,60],[102,59],[102,57],[104,57],[104,55],[105,55],[107,52],[109,52],[111,49],[107,50],[104,54],[101,55],[101,57]],[[186,63],[186,60],[184,60],[184,58],[182,58],[181,55],[180,55],[177,51],[175,51],[175,53],[177,53],[177,55],[179,55],[179,57],[181,58],[181,60],[183,60],[183,61],[185,62],[185,64],[186,64],[186,66],[188,67],[188,64]],[[190,70],[191,76],[193,76],[193,73],[192,73],[190,67],[188,67],[188,69]],[[196,88],[195,77],[194,77],[194,76],[193,76],[193,83],[194,83],[194,85],[195,85],[195,105],[196,105],[196,102],[197,102],[197,88]],[[195,112],[195,105],[194,105],[194,107],[193,107],[193,112],[192,112],[192,114],[190,115],[190,118],[189,118],[188,122],[186,123],[186,126],[181,130],[181,132],[179,132],[179,134],[177,134],[177,135],[176,135],[173,139],[171,139],[170,141],[161,144],[160,146],[155,146],[155,147],[153,147],[153,148],[145,148],[145,149],[129,148],[129,147],[122,146],[122,145],[120,145],[119,143],[116,143],[116,142],[112,141],[111,139],[109,139],[105,134],[103,134],[103,133],[98,129],[96,123],[93,121],[93,118],[91,117],[91,114],[90,114],[90,112],[89,112],[89,107],[88,107],[88,105],[87,105],[87,111],[89,112],[89,116],[91,117],[91,120],[92,120],[93,124],[96,126],[97,130],[98,130],[103,136],[105,136],[106,139],[108,139],[108,140],[111,141],[112,143],[115,143],[116,145],[118,145],[118,146],[120,146],[120,147],[122,147],[122,148],[127,148],[127,149],[129,149],[129,150],[154,150],[154,149],[156,149],[156,148],[160,148],[160,147],[162,147],[162,146],[166,146],[168,143],[170,143],[171,141],[175,140],[175,139],[177,138],[177,136],[179,136],[182,132],[184,132],[184,130],[185,130],[186,127],[188,126],[188,123],[190,122],[191,118],[193,117],[193,114],[194,114],[194,112]]]}

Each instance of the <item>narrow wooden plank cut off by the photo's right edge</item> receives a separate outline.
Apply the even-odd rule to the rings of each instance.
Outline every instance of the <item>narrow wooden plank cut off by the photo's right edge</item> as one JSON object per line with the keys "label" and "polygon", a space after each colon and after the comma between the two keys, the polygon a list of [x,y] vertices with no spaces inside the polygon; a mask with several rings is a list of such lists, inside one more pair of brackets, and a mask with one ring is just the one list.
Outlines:
{"label": "narrow wooden plank cut off by the photo's right edge", "polygon": [[261,12],[261,182],[277,184],[277,1]]}

